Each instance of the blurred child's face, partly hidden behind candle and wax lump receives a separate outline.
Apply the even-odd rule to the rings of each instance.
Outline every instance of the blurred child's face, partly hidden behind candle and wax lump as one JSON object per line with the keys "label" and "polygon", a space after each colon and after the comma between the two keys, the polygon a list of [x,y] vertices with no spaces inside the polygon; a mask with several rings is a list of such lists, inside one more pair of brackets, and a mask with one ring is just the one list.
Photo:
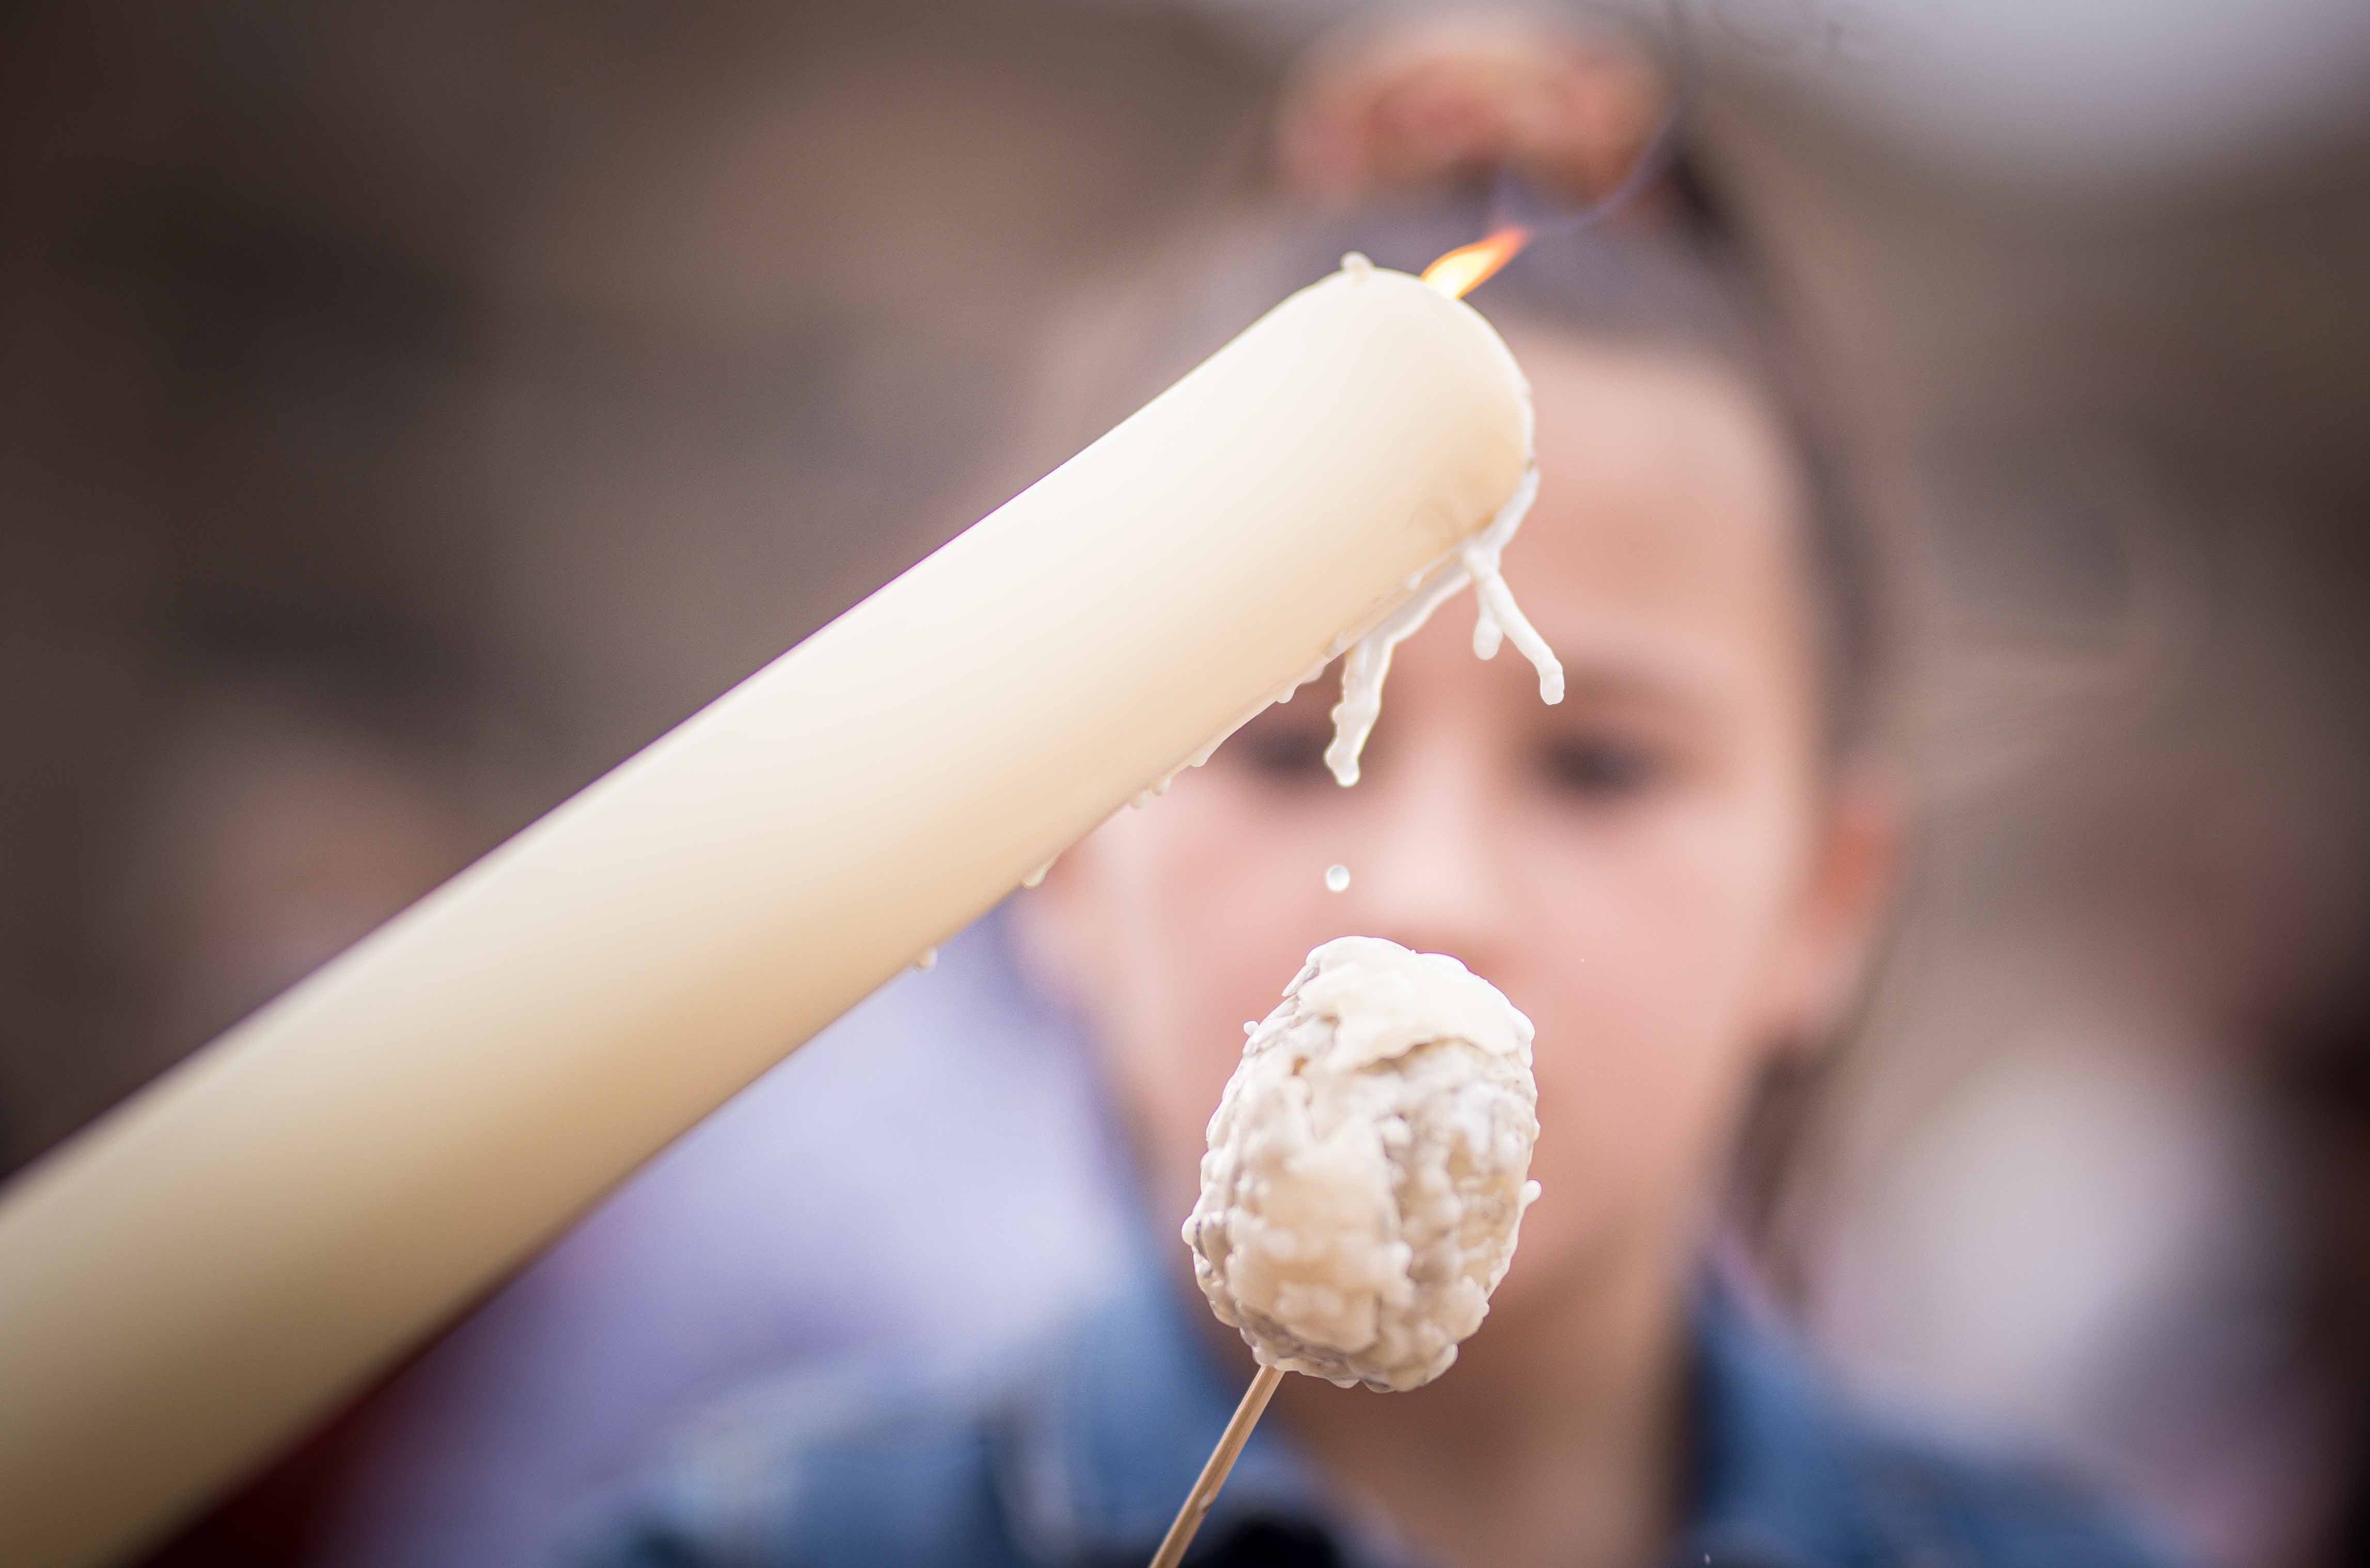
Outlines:
{"label": "blurred child's face, partly hidden behind candle and wax lump", "polygon": [[1512,651],[1477,661],[1453,602],[1398,649],[1358,786],[1320,760],[1325,680],[1019,902],[1164,1217],[1192,1206],[1244,1021],[1313,945],[1386,936],[1505,990],[1538,1026],[1545,1191],[1500,1315],[1692,1244],[1759,1068],[1851,983],[1889,848],[1820,756],[1794,476],[1761,407],[1666,353],[1514,348],[1543,483],[1507,580],[1564,703]]}

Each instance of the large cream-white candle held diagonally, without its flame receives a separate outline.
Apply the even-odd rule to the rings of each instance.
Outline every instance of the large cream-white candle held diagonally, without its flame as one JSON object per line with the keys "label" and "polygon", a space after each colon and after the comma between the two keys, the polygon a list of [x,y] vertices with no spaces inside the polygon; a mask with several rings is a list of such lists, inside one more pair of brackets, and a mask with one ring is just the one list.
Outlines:
{"label": "large cream-white candle held diagonally, without its flame", "polygon": [[107,1561],[251,1469],[1377,625],[1529,438],[1467,306],[1304,289],[33,1168],[0,1201],[0,1563]]}

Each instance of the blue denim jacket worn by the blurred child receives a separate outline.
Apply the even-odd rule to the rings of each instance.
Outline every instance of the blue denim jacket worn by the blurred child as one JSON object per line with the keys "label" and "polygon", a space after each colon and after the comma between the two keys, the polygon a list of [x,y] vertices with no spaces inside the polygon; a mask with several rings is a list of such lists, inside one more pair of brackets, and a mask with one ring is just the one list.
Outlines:
{"label": "blue denim jacket worn by the blurred child", "polygon": [[[1240,1388],[1166,1281],[1135,1279],[1000,1374],[851,1367],[756,1388],[595,1511],[581,1568],[1140,1568]],[[1690,1504],[1673,1568],[2142,1568],[2076,1490],[1851,1416],[1721,1289],[1692,1317]],[[1455,1376],[1450,1371],[1450,1376]],[[1377,1395],[1389,1397],[1389,1395]],[[1266,1421],[1194,1568],[1415,1568]]]}

